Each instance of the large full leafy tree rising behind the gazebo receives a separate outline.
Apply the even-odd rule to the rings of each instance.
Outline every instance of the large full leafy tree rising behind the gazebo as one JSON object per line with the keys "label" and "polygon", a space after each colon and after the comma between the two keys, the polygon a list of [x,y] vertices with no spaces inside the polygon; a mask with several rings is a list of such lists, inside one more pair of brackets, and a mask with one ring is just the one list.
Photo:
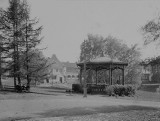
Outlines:
{"label": "large full leafy tree rising behind the gazebo", "polygon": [[[88,35],[88,39],[81,44],[80,61],[83,61],[85,58],[90,60],[104,56],[109,56],[112,59],[118,59],[129,64],[126,67],[126,83],[133,84],[140,82],[140,52],[138,51],[137,45],[129,48],[126,44],[123,44],[120,40],[111,36],[104,39],[101,36]],[[120,71],[115,72],[115,74],[118,73],[120,73]],[[104,75],[103,73],[99,74]]]}

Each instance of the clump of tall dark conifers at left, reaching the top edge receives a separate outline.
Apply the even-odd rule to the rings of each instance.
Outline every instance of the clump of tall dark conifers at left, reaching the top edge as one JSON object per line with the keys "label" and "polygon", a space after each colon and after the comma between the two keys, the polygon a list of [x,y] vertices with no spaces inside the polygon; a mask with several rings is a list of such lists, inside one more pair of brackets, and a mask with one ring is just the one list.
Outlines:
{"label": "clump of tall dark conifers at left, reaching the top edge", "polygon": [[[32,59],[29,53],[34,51],[42,40],[42,26],[37,27],[37,23],[37,19],[30,18],[30,8],[25,0],[9,0],[7,10],[0,11],[0,33],[5,38],[9,50],[7,57],[10,61],[7,67],[10,70],[9,77],[14,77],[14,86],[16,80],[21,85],[24,75],[27,85],[30,85],[29,61]],[[20,61],[22,57],[25,57],[25,64]],[[25,74],[22,72],[24,69]]]}

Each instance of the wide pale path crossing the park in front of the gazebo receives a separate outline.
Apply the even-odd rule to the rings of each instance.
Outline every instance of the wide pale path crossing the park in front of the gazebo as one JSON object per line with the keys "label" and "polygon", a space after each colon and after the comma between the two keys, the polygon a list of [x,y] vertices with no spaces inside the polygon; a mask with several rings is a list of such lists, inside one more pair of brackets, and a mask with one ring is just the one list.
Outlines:
{"label": "wide pale path crossing the park in front of the gazebo", "polygon": [[0,100],[0,120],[9,117],[38,117],[38,114],[49,110],[71,109],[78,107],[102,106],[147,106],[160,108],[160,102],[126,100],[115,97],[90,95],[60,95],[53,98]]}

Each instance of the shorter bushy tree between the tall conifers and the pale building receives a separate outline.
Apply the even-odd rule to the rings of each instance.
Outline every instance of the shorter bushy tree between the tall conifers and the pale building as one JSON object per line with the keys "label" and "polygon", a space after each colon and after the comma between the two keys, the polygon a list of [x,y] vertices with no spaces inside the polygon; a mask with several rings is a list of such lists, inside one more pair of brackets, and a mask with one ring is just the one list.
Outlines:
{"label": "shorter bushy tree between the tall conifers and the pale building", "polygon": [[37,82],[38,80],[44,80],[50,74],[48,59],[38,49],[28,52],[28,69],[26,69],[25,59],[26,57],[23,55],[21,61],[24,63],[22,64],[21,72],[23,79],[27,79],[26,74],[29,75],[29,80],[27,80],[28,86],[30,86],[31,81],[34,80]]}

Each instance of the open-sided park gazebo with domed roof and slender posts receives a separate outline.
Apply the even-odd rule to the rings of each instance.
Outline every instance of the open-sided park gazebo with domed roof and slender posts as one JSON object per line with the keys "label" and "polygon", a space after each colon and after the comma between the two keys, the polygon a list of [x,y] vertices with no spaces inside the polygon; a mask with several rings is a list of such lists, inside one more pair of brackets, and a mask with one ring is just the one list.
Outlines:
{"label": "open-sided park gazebo with domed roof and slender posts", "polygon": [[[99,70],[107,70],[109,71],[109,85],[113,84],[112,76],[113,76],[113,70],[115,69],[120,69],[122,70],[122,79],[121,79],[121,84],[125,84],[125,79],[124,79],[124,72],[125,72],[125,67],[128,65],[128,63],[119,61],[118,59],[111,59],[109,57],[98,57],[95,59],[92,59],[90,61],[82,61],[77,63],[77,66],[80,68],[80,82],[82,82],[82,72],[83,70],[94,70],[96,72],[96,83],[94,85],[99,85],[98,78],[97,78],[97,72]],[[87,85],[92,85],[89,83],[86,83]],[[101,84],[105,85],[105,83]],[[107,84],[106,84],[107,85]]]}

